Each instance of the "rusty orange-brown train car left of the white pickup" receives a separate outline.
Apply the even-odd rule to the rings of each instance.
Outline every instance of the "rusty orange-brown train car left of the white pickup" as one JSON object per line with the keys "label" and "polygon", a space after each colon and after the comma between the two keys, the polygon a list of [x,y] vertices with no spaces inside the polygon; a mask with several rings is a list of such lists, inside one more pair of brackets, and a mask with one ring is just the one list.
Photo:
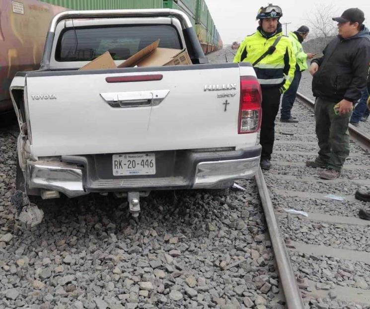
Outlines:
{"label": "rusty orange-brown train car left of the white pickup", "polygon": [[11,80],[19,71],[39,68],[50,21],[64,10],[37,0],[0,1],[0,122],[13,109]]}

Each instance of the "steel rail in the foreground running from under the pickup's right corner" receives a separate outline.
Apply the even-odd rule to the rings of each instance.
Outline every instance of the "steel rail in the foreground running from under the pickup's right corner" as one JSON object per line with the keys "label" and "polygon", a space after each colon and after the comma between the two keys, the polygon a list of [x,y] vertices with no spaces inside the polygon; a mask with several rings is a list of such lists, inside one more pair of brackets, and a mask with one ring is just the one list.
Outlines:
{"label": "steel rail in the foreground running from under the pickup's right corner", "polygon": [[288,309],[303,309],[302,297],[298,289],[296,277],[294,276],[287,247],[285,246],[284,240],[280,236],[278,221],[276,220],[269,189],[267,188],[261,168],[258,169],[254,179],[257,184],[258,193],[260,195],[263,211],[265,213],[266,223],[269,229],[276,263],[278,265],[280,281],[283,286],[287,307]]}

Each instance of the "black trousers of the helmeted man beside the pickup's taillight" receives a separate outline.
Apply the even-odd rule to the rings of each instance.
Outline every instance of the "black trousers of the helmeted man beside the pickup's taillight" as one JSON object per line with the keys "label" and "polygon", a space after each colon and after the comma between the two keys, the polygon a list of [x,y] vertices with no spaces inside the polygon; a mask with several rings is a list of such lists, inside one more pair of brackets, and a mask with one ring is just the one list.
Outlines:
{"label": "black trousers of the helmeted man beside the pickup's taillight", "polygon": [[275,118],[280,105],[279,87],[262,88],[261,159],[271,159],[275,140]]}

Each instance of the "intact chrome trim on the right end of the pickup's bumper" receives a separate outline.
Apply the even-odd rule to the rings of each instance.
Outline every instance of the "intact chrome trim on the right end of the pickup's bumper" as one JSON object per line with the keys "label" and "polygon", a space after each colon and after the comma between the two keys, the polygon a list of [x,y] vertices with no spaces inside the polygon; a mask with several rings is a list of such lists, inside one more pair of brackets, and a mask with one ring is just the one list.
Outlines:
{"label": "intact chrome trim on the right end of the pickup's bumper", "polygon": [[194,189],[212,188],[223,180],[248,179],[257,172],[260,156],[251,158],[200,162],[195,172]]}

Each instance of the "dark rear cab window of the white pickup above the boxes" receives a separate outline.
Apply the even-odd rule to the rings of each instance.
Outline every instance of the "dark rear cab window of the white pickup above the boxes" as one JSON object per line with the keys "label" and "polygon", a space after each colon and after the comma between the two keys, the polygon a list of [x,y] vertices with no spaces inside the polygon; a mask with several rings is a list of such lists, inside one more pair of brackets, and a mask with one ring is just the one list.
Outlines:
{"label": "dark rear cab window of the white pickup above the boxes", "polygon": [[159,41],[159,47],[181,49],[176,28],[170,25],[70,28],[59,39],[56,60],[91,61],[108,51],[114,60],[126,60]]}

